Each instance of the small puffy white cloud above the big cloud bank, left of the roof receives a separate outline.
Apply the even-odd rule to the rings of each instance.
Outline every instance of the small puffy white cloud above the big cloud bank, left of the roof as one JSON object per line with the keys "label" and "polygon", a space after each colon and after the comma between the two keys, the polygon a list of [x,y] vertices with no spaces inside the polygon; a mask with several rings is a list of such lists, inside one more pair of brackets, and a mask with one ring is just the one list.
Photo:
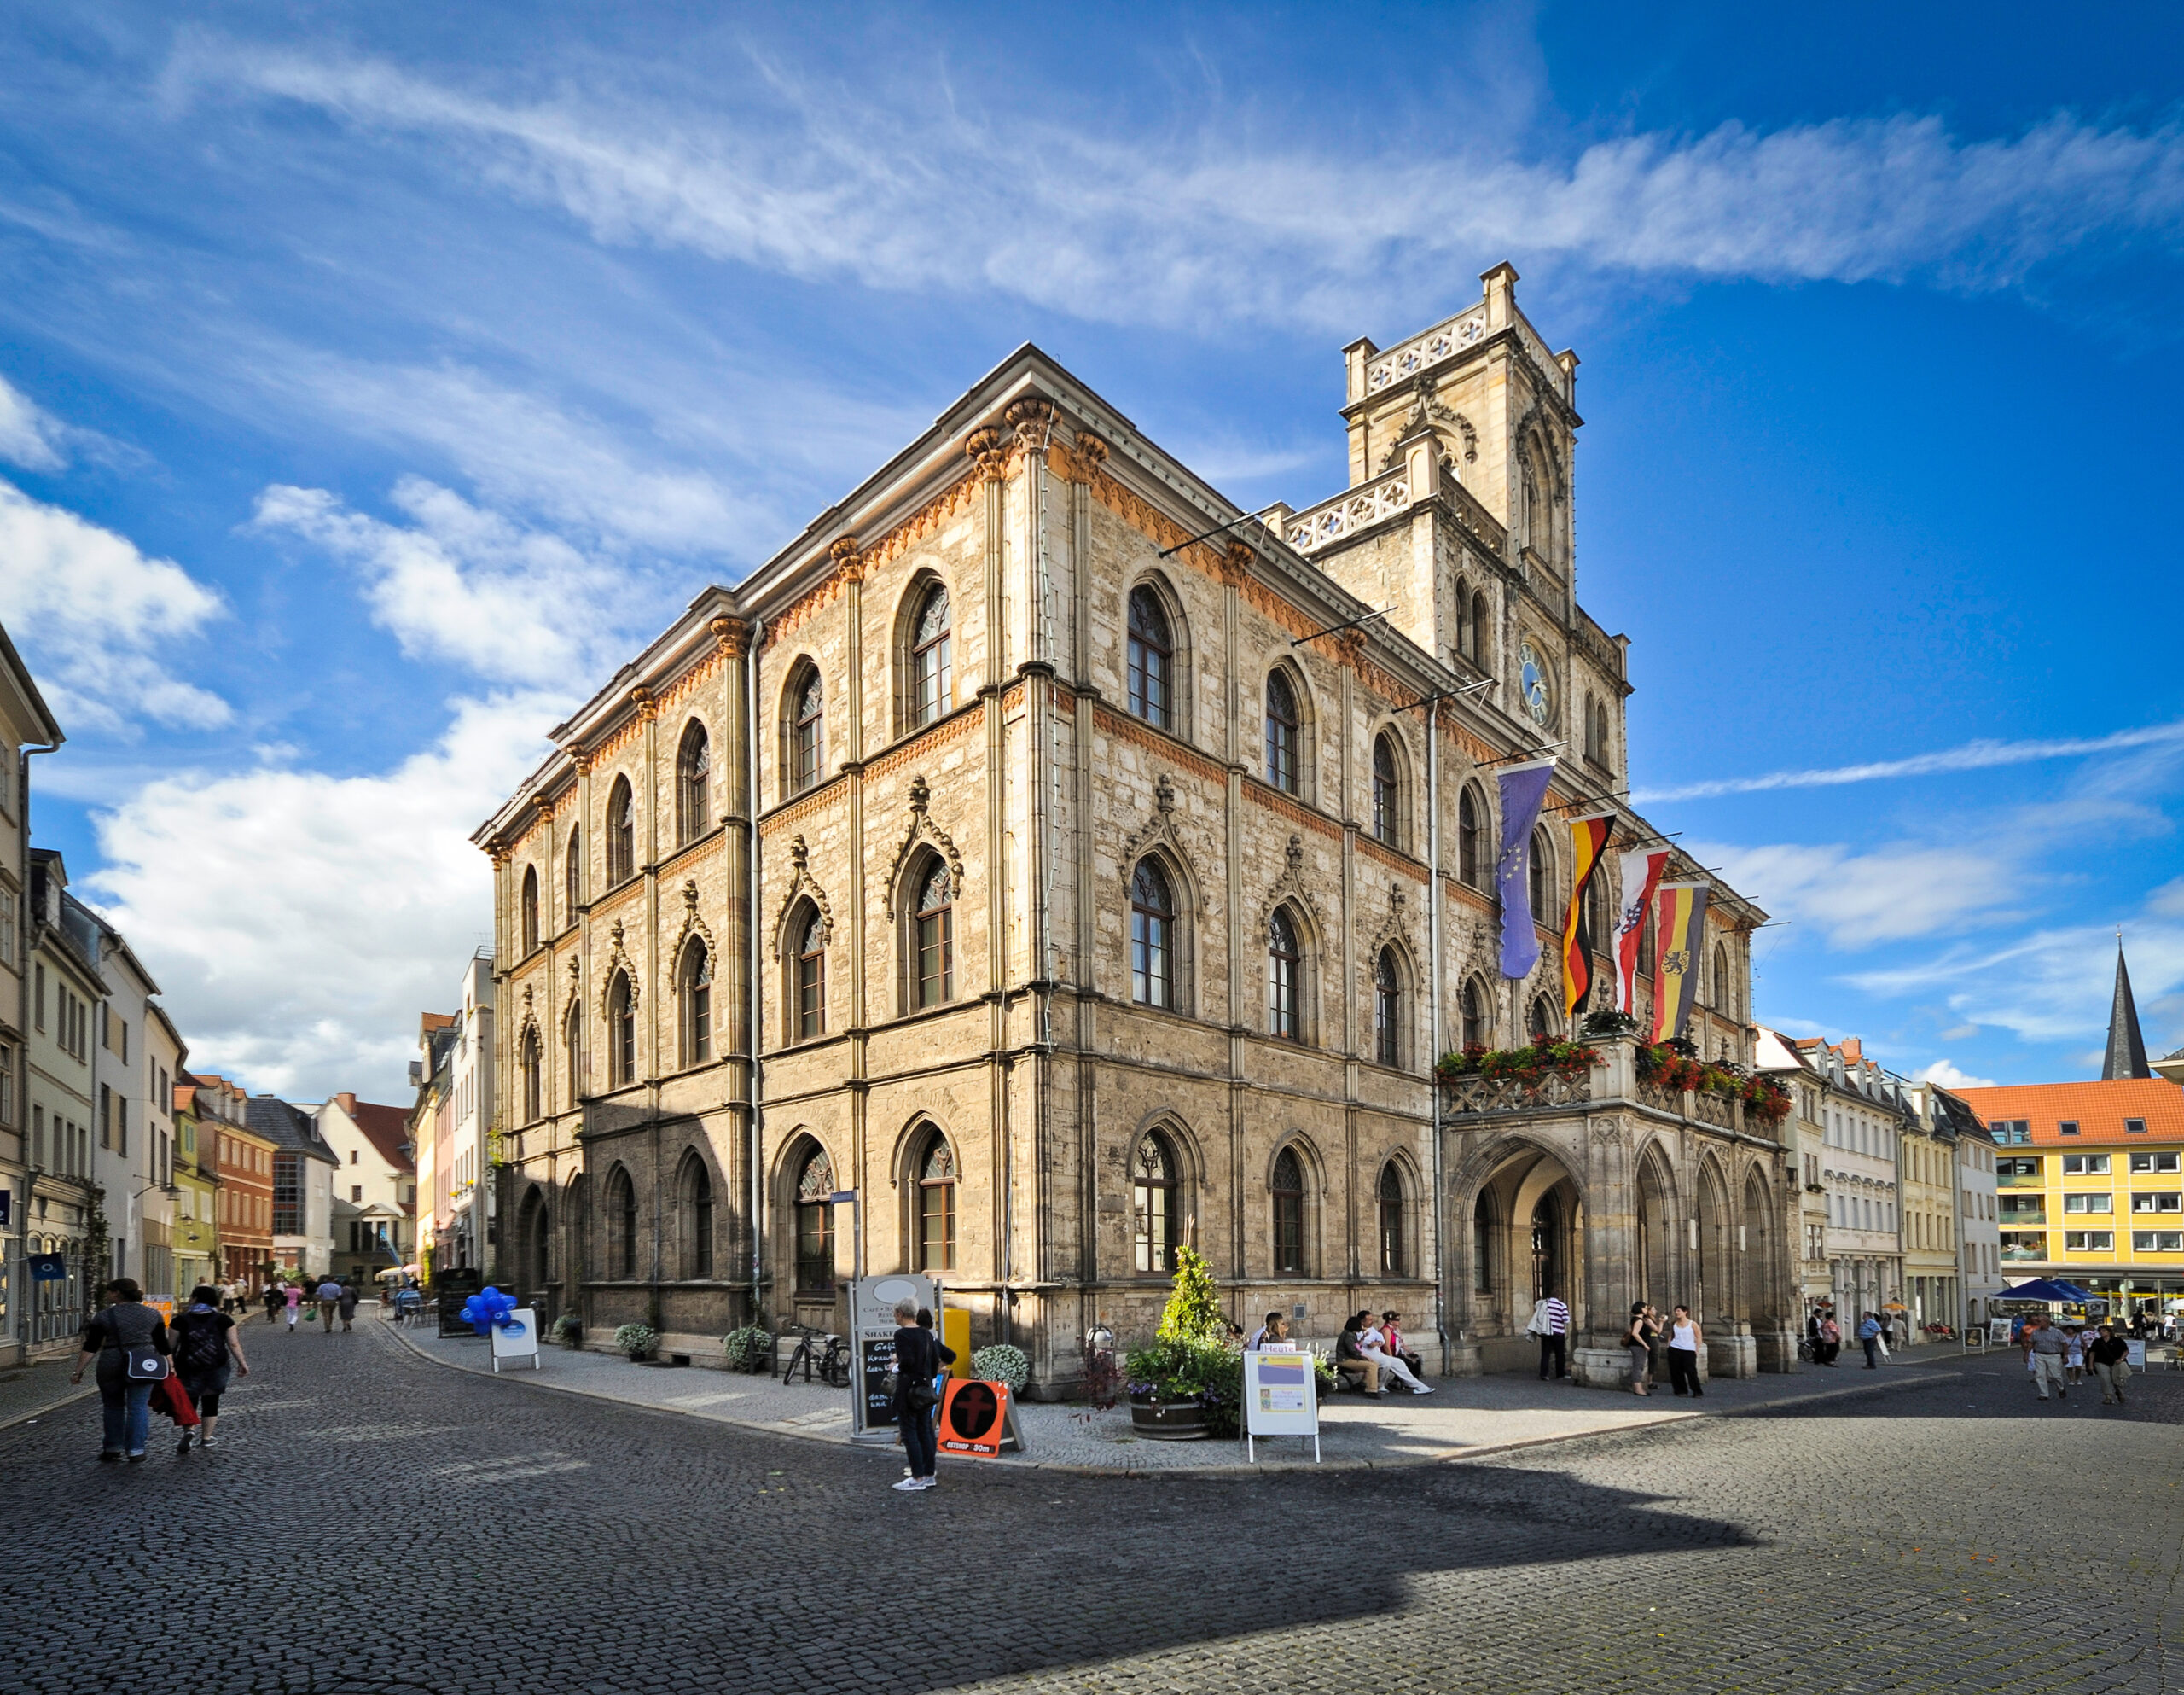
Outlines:
{"label": "small puffy white cloud above the big cloud bank, left of the roof", "polygon": [[491,681],[568,688],[612,666],[633,616],[653,609],[629,566],[522,529],[419,476],[393,505],[411,524],[352,511],[325,489],[282,483],[251,526],[301,537],[354,568],[373,620],[413,660],[452,660]]}

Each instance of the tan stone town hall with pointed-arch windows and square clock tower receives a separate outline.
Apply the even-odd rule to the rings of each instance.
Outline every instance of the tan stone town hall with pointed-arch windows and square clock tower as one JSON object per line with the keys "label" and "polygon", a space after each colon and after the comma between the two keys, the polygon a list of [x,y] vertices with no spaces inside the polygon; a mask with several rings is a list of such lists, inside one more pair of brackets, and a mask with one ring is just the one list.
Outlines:
{"label": "tan stone town hall with pointed-arch windows and square clock tower", "polygon": [[[1350,349],[1354,487],[1265,522],[1026,347],[555,730],[478,832],[502,1278],[712,1363],[930,1269],[1046,1389],[1186,1243],[1238,1321],[1393,1306],[1459,1367],[1514,1363],[1538,1278],[1605,1335],[1701,1282],[1787,1321],[1741,1110],[1645,1101],[1627,1044],[1586,1099],[1433,1083],[1564,1027],[1555,935],[1494,974],[1494,767],[1562,754],[1551,924],[1562,819],[1651,837],[1575,601],[1577,360],[1485,284],[1476,334]],[[1708,920],[1690,1035],[1749,1059],[1762,915]]]}

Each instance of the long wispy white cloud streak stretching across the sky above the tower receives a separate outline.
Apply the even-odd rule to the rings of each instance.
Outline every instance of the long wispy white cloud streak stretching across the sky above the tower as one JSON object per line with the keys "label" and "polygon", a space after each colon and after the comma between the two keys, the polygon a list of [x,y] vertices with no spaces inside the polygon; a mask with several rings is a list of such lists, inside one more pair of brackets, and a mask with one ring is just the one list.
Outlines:
{"label": "long wispy white cloud streak stretching across the sky above the tower", "polygon": [[1728,122],[1527,159],[1459,140],[1505,129],[1448,114],[1439,144],[1404,125],[1402,151],[1339,155],[1254,144],[1221,114],[1114,140],[1075,116],[981,116],[946,76],[895,76],[885,96],[860,85],[847,100],[778,66],[705,109],[657,92],[618,100],[605,76],[587,96],[524,100],[376,59],[207,39],[175,61],[170,90],[240,85],[424,138],[609,245],[882,288],[998,288],[1114,321],[1350,328],[1365,299],[1441,299],[1450,262],[1503,253],[1992,288],[2092,240],[2173,245],[2184,227],[2175,127],[2057,116],[1966,142],[1931,116],[1767,133]]}

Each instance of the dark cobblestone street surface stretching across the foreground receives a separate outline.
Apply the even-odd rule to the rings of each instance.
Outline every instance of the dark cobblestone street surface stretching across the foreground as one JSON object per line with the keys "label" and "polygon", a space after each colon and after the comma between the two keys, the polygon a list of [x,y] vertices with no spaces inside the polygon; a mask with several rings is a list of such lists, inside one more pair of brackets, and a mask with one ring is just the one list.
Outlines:
{"label": "dark cobblestone street surface stretching across the foreground", "polygon": [[98,1466],[96,1402],[0,1431],[0,1691],[2184,1682],[2184,1374],[2042,1407],[2003,1359],[1424,1470],[895,1494],[893,1453],[511,1394],[371,1326],[249,1346],[212,1453]]}

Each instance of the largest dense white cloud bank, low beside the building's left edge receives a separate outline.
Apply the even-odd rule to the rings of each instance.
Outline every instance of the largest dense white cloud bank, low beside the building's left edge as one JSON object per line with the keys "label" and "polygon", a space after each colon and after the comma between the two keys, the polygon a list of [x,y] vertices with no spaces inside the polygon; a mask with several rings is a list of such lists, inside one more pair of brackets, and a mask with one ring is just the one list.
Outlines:
{"label": "largest dense white cloud bank, low beside the building's left edge", "polygon": [[87,878],[166,989],[190,1059],[253,1090],[402,1099],[417,1014],[491,939],[470,832],[535,767],[568,701],[456,701],[378,775],[177,773],[94,817]]}

